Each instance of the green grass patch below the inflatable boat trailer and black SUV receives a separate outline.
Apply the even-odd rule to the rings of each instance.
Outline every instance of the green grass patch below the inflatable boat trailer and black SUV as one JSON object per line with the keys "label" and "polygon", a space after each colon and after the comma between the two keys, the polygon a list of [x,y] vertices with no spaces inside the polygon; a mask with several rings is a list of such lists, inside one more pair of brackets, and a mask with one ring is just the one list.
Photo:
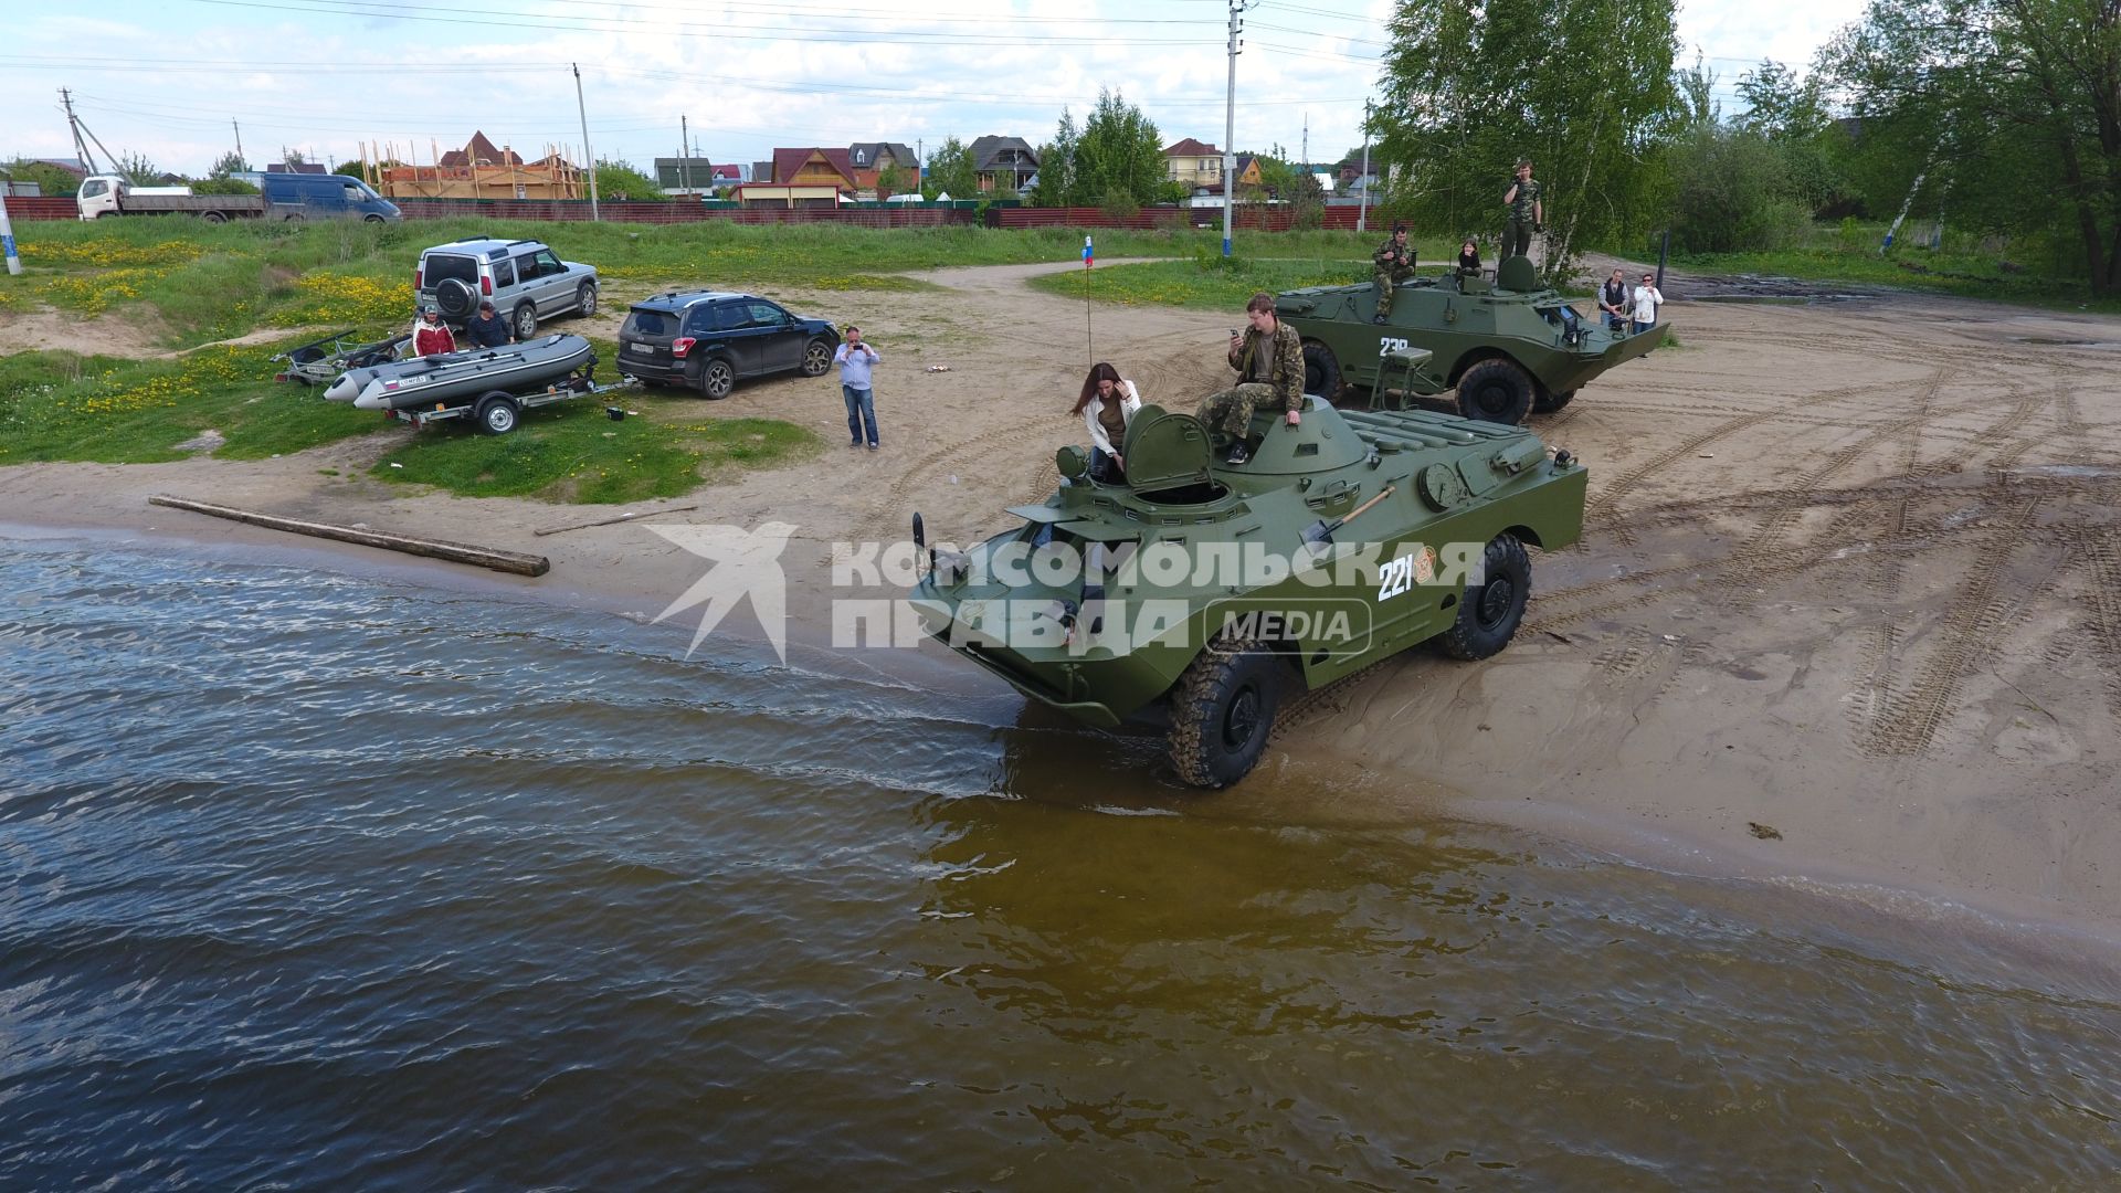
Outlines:
{"label": "green grass patch below the inflatable boat trailer and black SUV", "polygon": [[[643,399],[624,397],[638,408]],[[653,403],[653,399],[649,399]],[[672,399],[674,401],[674,399]],[[401,484],[433,484],[460,497],[539,497],[613,505],[679,497],[702,478],[728,480],[749,469],[814,456],[825,442],[772,418],[604,418],[596,399],[524,412],[509,435],[435,425],[375,463],[371,473]]]}

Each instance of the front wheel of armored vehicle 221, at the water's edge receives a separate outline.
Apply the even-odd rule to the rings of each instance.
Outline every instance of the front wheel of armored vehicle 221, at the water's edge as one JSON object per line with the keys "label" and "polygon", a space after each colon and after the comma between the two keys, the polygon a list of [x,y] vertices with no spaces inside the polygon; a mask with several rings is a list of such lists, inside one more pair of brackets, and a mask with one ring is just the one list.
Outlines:
{"label": "front wheel of armored vehicle 221, at the water's edge", "polygon": [[1213,643],[1171,688],[1171,764],[1194,788],[1228,788],[1260,762],[1287,664],[1256,643]]}

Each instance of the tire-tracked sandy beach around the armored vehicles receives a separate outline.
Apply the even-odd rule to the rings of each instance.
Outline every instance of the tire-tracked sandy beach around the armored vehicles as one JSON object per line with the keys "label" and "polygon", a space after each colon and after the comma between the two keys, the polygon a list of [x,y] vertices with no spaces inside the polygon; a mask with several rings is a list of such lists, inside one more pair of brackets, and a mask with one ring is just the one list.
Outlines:
{"label": "tire-tracked sandy beach around the armored vehicles", "polygon": [[[861,323],[882,348],[884,450],[840,446],[831,378],[751,382],[713,414],[785,418],[831,448],[630,509],[795,524],[783,560],[793,633],[823,639],[829,543],[899,539],[914,509],[940,539],[976,539],[1012,522],[1003,505],[1050,492],[1052,452],[1082,437],[1067,408],[1088,346],[1080,301],[1022,284],[1044,270],[927,274],[935,293],[778,295]],[[1686,280],[1667,291],[1684,299]],[[624,316],[611,308],[598,333]],[[1531,420],[1589,463],[1591,514],[1582,546],[1533,558],[1512,647],[1483,664],[1413,652],[1302,698],[1247,790],[1404,792],[1423,813],[1652,864],[1913,892],[2113,938],[2121,321],[1907,295],[1673,301],[1667,314],[1678,348]],[[1234,318],[1099,308],[1090,331],[1147,399],[1190,408],[1226,376]],[[0,522],[138,548],[242,546],[634,616],[700,575],[643,524],[532,535],[628,507],[454,499],[363,476],[409,433],[257,463],[0,469]],[[291,541],[151,507],[155,492],[539,552],[551,573],[464,575]],[[872,654],[848,667],[997,686],[940,647]]]}

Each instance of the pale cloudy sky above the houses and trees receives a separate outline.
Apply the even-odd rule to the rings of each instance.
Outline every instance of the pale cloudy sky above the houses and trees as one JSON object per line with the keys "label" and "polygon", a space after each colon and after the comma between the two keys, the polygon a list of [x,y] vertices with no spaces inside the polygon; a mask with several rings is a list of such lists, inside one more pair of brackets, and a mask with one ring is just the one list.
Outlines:
{"label": "pale cloudy sky above the houses and trees", "polygon": [[[581,144],[581,66],[598,157],[679,151],[757,161],[778,146],[1014,134],[1033,144],[1099,87],[1164,140],[1222,146],[1228,0],[102,0],[11,4],[0,159],[72,157],[59,87],[110,153],[185,174],[235,146],[426,161],[471,129],[518,151]],[[1258,0],[1245,13],[1237,146],[1360,144],[1389,0]],[[1682,0],[1684,55],[1729,85],[1760,57],[1807,64],[1856,0]],[[93,144],[91,144],[93,149]]]}

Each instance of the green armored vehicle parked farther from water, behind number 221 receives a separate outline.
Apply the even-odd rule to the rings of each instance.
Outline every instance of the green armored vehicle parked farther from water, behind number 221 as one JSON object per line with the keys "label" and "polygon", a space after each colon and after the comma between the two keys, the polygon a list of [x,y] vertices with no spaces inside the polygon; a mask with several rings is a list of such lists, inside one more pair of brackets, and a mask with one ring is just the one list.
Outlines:
{"label": "green armored vehicle parked farther from water, behind number 221", "polygon": [[[1584,382],[1665,342],[1665,325],[1614,335],[1542,289],[1525,257],[1506,257],[1495,280],[1444,274],[1393,291],[1387,323],[1372,323],[1377,287],[1311,287],[1275,297],[1275,314],[1304,338],[1304,391],[1328,399],[1340,386],[1372,393],[1370,405],[1457,391],[1466,418],[1519,425],[1550,414]],[[1425,348],[1430,365],[1396,374],[1391,357]]]}

